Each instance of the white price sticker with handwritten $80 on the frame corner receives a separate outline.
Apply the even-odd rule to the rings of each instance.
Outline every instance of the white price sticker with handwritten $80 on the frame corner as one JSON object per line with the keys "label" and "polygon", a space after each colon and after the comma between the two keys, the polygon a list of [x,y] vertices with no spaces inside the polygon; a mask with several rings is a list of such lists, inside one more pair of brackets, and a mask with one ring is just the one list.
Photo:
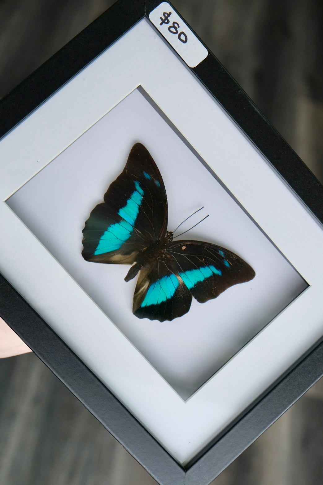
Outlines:
{"label": "white price sticker with handwritten $80 on the frame corner", "polygon": [[160,3],[149,19],[189,67],[196,67],[206,58],[207,49],[169,3]]}

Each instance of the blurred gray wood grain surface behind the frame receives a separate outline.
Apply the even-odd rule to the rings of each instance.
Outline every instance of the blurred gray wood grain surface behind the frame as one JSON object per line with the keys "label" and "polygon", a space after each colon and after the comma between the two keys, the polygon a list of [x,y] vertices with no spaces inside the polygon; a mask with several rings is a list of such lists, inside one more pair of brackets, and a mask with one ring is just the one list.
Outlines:
{"label": "blurred gray wood grain surface behind the frame", "polygon": [[[112,3],[2,0],[0,97]],[[172,3],[322,181],[322,0]],[[213,484],[322,484],[322,443],[320,381]],[[1,485],[154,483],[35,355],[0,360]]]}

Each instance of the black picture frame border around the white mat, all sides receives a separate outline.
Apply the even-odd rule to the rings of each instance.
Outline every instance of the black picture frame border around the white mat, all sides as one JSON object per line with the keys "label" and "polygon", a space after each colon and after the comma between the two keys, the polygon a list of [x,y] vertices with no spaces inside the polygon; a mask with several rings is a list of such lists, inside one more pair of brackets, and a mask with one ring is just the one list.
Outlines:
{"label": "black picture frame border around the white mat, all sides", "polygon": [[[119,0],[0,101],[0,137],[159,4]],[[175,10],[175,9],[174,9]],[[171,48],[170,48],[171,49]],[[209,52],[193,75],[323,224],[323,186]],[[214,442],[180,466],[0,275],[0,316],[161,485],[208,485],[323,375],[320,340]]]}

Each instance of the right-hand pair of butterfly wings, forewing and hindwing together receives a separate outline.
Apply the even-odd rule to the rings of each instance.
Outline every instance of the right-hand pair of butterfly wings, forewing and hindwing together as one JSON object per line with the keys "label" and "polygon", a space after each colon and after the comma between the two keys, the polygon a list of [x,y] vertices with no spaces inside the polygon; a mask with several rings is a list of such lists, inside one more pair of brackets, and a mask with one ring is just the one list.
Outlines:
{"label": "right-hand pair of butterfly wings, forewing and hindwing together", "polygon": [[133,313],[160,322],[173,320],[187,313],[192,296],[204,303],[254,276],[246,261],[221,246],[189,240],[171,242],[165,258],[140,270]]}

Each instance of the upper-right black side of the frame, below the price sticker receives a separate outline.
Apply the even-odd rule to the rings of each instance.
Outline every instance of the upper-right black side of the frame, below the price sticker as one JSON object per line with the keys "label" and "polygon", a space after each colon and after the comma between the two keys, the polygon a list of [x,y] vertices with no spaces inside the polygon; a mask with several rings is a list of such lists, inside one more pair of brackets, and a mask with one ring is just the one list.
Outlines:
{"label": "upper-right black side of the frame, below the price sticker", "polygon": [[208,52],[208,56],[192,68],[194,74],[274,167],[278,175],[323,223],[322,184],[215,55],[210,50]]}

